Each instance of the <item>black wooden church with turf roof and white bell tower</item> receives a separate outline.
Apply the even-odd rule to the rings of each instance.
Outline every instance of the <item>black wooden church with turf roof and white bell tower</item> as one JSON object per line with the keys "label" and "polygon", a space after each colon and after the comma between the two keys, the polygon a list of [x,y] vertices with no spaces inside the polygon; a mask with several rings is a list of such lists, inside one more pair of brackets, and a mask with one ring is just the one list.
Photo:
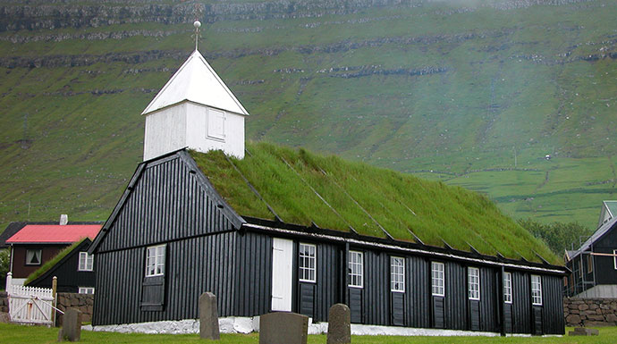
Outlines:
{"label": "black wooden church with turf roof and white bell tower", "polygon": [[[484,198],[245,146],[249,113],[197,50],[143,114],[144,162],[89,250],[93,325],[195,319],[212,291],[223,317],[327,322],[342,302],[352,323],[563,333],[566,270]],[[463,214],[433,206],[435,192],[457,193]]]}

